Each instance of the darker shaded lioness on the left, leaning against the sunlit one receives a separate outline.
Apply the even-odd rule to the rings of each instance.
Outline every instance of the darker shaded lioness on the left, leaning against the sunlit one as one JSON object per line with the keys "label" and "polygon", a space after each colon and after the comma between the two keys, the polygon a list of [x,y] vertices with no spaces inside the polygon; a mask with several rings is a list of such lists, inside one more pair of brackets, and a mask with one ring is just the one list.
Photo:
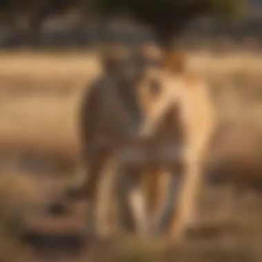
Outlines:
{"label": "darker shaded lioness on the left, leaning against the sunlit one", "polygon": [[138,57],[125,51],[103,56],[103,75],[86,88],[83,95],[79,131],[87,179],[80,190],[70,190],[70,194],[85,195],[88,199],[92,216],[88,219],[88,228],[93,233],[101,168],[115,148],[139,136],[145,114],[140,105],[138,84],[144,68],[154,68],[154,61],[159,59],[155,54],[154,48],[147,48]]}

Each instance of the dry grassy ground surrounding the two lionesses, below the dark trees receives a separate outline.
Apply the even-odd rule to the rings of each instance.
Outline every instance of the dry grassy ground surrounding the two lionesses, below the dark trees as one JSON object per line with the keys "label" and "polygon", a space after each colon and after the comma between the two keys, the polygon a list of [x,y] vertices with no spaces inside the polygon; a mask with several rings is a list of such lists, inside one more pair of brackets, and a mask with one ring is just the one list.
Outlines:
{"label": "dry grassy ground surrounding the two lionesses, below the dark trees", "polygon": [[[193,53],[190,59],[210,83],[219,127],[226,123],[214,137],[207,162],[235,158],[239,175],[259,181],[261,55]],[[210,172],[199,203],[199,231],[183,243],[114,239],[110,231],[117,223],[105,193],[100,194],[99,214],[108,214],[108,220],[99,219],[99,230],[109,236],[83,241],[86,204],[68,202],[63,192],[83,179],[77,110],[83,88],[99,74],[95,56],[18,52],[0,54],[0,60],[0,259],[261,261],[260,192],[244,190],[234,203],[237,210],[228,216],[227,186],[211,183]],[[110,167],[105,174],[101,192],[110,185]]]}

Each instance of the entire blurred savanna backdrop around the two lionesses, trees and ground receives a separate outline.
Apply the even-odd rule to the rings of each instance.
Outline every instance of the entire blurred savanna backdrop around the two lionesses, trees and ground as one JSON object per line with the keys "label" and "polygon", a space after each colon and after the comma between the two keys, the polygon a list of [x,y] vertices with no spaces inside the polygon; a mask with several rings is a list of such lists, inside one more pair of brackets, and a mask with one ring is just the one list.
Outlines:
{"label": "entire blurred savanna backdrop around the two lionesses, trees and ground", "polygon": [[[79,99],[110,43],[172,44],[208,81],[218,128],[201,237],[176,246],[81,241],[85,203],[68,203],[63,191],[83,179]],[[1,0],[0,260],[262,261],[261,50],[261,0]],[[225,177],[241,188],[230,215]],[[110,175],[102,183],[99,214],[109,215],[99,230],[107,235],[117,228]]]}

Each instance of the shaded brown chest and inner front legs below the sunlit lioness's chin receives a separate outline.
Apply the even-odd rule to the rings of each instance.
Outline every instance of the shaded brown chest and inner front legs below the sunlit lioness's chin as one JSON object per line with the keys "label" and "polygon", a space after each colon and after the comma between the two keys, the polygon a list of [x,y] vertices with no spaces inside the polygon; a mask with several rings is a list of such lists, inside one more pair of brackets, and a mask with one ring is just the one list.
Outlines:
{"label": "shaded brown chest and inner front legs below the sunlit lioness's chin", "polygon": [[[168,119],[164,122],[167,124]],[[144,209],[142,213],[138,210],[139,207],[134,205],[131,207],[130,203],[125,201],[121,205],[121,212],[128,215],[129,220],[134,216],[135,221],[132,223],[137,227],[135,230],[144,236],[154,233],[154,230],[159,231],[156,223],[165,212],[167,197],[170,198],[169,194],[173,193],[172,190],[171,192],[168,190],[169,172],[180,171],[183,165],[179,157],[174,159],[177,150],[175,145],[172,152],[167,152],[167,143],[168,145],[176,143],[177,137],[175,134],[172,134],[174,138],[165,136],[168,134],[165,128],[166,125],[161,127],[155,137],[132,139],[117,149],[117,164],[122,180],[120,185],[122,193],[119,194],[119,198],[128,197],[128,191],[132,188],[141,190],[139,202],[143,202]],[[123,221],[124,228],[128,228],[127,221]]]}

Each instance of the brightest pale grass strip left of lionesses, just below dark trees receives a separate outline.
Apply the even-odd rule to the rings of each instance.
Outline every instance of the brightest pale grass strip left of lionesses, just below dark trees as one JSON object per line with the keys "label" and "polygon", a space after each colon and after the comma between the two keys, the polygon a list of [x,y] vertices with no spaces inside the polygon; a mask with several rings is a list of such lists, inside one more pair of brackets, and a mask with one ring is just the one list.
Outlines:
{"label": "brightest pale grass strip left of lionesses, just below dark trees", "polygon": [[2,53],[0,77],[29,78],[32,81],[79,79],[92,77],[97,72],[94,55],[66,53]]}

